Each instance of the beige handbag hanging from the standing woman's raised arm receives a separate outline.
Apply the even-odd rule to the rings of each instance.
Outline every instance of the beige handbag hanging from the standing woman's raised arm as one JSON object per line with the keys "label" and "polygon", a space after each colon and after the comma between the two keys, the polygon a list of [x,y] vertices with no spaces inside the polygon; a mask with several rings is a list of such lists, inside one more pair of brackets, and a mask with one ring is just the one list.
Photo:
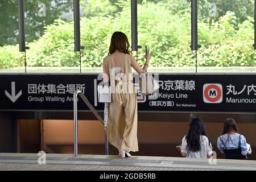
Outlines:
{"label": "beige handbag hanging from the standing woman's raised arm", "polygon": [[144,71],[139,78],[139,88],[141,88],[142,96],[151,94],[159,89],[158,81],[152,76],[152,73]]}

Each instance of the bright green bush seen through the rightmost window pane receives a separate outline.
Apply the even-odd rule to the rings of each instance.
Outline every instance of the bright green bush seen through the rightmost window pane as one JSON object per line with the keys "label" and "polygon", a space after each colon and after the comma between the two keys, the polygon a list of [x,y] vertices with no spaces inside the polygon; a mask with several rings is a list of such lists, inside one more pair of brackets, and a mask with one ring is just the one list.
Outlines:
{"label": "bright green bush seen through the rightmost window pane", "polygon": [[[247,17],[236,26],[236,15],[227,13],[211,26],[199,24],[200,66],[255,66],[254,19]],[[203,28],[201,28],[203,27]],[[208,33],[208,34],[207,34]]]}

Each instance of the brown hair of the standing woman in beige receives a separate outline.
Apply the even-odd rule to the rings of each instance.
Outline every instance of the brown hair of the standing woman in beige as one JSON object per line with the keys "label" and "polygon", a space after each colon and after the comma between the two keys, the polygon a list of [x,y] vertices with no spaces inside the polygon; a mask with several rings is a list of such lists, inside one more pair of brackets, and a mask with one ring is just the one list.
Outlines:
{"label": "brown hair of the standing woman in beige", "polygon": [[109,46],[109,55],[111,55],[113,52],[115,52],[116,49],[118,51],[131,54],[131,51],[129,51],[129,41],[128,38],[123,32],[114,32],[111,38],[111,43]]}

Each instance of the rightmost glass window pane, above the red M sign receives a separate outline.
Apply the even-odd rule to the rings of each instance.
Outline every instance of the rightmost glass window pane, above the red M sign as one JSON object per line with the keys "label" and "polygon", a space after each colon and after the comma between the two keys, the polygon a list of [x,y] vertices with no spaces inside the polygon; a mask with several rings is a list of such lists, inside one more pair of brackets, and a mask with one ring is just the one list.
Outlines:
{"label": "rightmost glass window pane, above the red M sign", "polygon": [[255,72],[254,0],[199,1],[199,71]]}

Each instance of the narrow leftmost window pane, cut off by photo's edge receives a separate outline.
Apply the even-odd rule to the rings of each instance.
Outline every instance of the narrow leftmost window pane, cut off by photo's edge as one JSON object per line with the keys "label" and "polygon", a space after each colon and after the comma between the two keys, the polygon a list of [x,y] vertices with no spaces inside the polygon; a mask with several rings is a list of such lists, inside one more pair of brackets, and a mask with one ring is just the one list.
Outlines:
{"label": "narrow leftmost window pane, cut off by photo's edge", "polygon": [[0,72],[24,72],[19,52],[18,1],[0,2]]}

